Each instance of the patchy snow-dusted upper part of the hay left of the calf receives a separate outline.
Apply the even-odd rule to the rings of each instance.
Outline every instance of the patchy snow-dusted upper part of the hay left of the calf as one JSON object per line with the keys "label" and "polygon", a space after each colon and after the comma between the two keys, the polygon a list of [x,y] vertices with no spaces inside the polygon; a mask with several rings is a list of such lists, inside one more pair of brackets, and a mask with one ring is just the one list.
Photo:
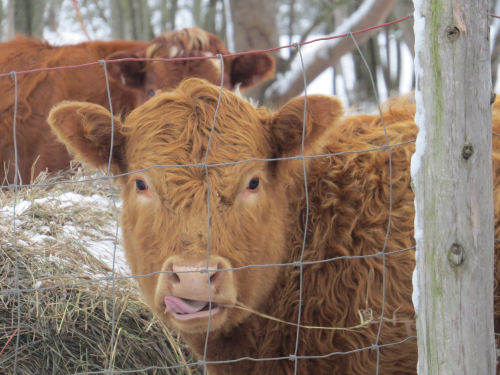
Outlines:
{"label": "patchy snow-dusted upper part of the hay left of the calf", "polygon": [[[0,235],[12,247],[40,249],[45,261],[64,262],[64,256],[58,254],[68,250],[80,252],[82,259],[94,257],[103,272],[95,275],[94,270],[93,277],[109,277],[113,263],[117,274],[129,275],[117,220],[121,203],[116,202],[115,207],[109,189],[100,194],[99,189],[87,191],[82,184],[25,190],[17,198],[11,192],[0,193]],[[85,268],[83,262],[83,273]]]}

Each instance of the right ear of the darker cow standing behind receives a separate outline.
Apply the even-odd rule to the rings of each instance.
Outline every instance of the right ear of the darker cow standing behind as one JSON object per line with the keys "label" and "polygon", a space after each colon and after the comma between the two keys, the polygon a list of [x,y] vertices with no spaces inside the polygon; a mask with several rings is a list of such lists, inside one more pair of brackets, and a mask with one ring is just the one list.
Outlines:
{"label": "right ear of the darker cow standing behind", "polygon": [[274,76],[274,58],[267,53],[236,56],[231,61],[231,87],[249,89]]}

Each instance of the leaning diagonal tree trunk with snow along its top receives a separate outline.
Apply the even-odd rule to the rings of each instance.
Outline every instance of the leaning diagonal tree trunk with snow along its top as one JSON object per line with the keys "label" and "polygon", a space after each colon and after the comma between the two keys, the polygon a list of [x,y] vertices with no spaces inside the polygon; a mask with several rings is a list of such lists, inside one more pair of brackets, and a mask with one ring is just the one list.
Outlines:
{"label": "leaning diagonal tree trunk with snow along its top", "polygon": [[[389,14],[396,0],[365,0],[349,19],[342,23],[332,35],[344,34],[351,30],[359,30],[383,22]],[[365,42],[373,31],[356,35],[358,43]],[[312,82],[325,69],[338,62],[346,53],[355,48],[351,38],[335,39],[325,42],[322,48],[304,55],[305,74],[307,82]],[[300,64],[297,64],[300,66]],[[291,70],[277,77],[265,92],[265,102],[281,105],[304,90],[302,70]]]}

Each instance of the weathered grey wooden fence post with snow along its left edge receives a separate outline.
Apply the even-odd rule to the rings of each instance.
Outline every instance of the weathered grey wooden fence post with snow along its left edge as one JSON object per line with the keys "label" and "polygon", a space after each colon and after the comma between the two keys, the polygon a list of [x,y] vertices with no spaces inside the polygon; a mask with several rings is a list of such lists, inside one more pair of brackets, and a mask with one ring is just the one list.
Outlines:
{"label": "weathered grey wooden fence post with snow along its left edge", "polygon": [[419,374],[494,374],[488,0],[414,0]]}

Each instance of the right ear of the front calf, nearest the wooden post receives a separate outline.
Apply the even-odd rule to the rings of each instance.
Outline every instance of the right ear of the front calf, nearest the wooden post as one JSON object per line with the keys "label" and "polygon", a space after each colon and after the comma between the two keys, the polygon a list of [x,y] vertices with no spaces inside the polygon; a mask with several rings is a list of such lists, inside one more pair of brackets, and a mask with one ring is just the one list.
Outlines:
{"label": "right ear of the front calf, nearest the wooden post", "polygon": [[[273,116],[270,130],[277,156],[302,153],[304,103],[304,97],[292,99]],[[304,154],[314,155],[327,142],[328,130],[342,117],[344,109],[339,99],[326,95],[309,95],[306,108]]]}

